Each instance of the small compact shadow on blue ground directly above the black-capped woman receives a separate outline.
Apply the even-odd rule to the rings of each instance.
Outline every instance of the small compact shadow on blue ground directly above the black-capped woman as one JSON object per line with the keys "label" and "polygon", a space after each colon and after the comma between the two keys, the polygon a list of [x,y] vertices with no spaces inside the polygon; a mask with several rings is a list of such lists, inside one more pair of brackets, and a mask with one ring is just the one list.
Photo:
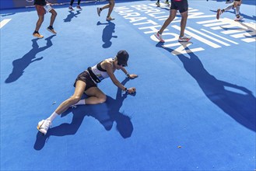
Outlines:
{"label": "small compact shadow on blue ground directly above the black-capped woman", "polygon": [[98,22],[97,25],[106,25],[105,28],[103,29],[102,33],[102,41],[103,41],[103,48],[108,48],[112,45],[112,42],[110,41],[112,38],[117,38],[117,36],[113,36],[114,29],[115,29],[115,24],[112,22],[108,23],[100,23]]}

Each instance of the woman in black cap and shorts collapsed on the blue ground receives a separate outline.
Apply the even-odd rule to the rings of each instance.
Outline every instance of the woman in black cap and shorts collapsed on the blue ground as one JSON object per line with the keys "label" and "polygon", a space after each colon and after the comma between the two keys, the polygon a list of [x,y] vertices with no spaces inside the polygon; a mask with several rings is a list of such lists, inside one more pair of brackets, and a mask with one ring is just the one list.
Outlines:
{"label": "woman in black cap and shorts collapsed on the blue ground", "polygon": [[[121,69],[129,79],[135,79],[138,75],[129,74],[124,68],[127,66],[129,54],[127,51],[118,51],[115,58],[107,58],[100,61],[97,65],[87,68],[86,71],[80,73],[75,79],[75,92],[58,106],[54,113],[51,114],[46,120],[41,120],[37,124],[37,129],[42,134],[47,134],[47,130],[51,126],[55,117],[68,110],[70,106],[85,105],[85,104],[98,104],[104,103],[107,96],[97,87],[97,83],[103,79],[110,77],[115,86],[122,89],[124,92],[133,93],[136,91],[135,87],[124,87],[115,77],[114,72]],[[89,96],[86,99],[81,99],[82,94],[86,93]]]}

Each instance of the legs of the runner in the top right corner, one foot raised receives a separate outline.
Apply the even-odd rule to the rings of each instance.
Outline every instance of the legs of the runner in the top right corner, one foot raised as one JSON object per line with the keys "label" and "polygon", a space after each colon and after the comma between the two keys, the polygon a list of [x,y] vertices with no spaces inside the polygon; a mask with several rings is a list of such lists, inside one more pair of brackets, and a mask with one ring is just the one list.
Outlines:
{"label": "legs of the runner in the top right corner, one foot raised", "polygon": [[242,4],[242,0],[234,0],[233,5],[228,5],[225,9],[218,9],[217,10],[217,15],[216,18],[219,19],[220,15],[223,12],[226,12],[230,9],[236,8],[236,18],[234,19],[235,21],[240,21],[241,19],[244,19],[243,16],[240,16],[240,5]]}

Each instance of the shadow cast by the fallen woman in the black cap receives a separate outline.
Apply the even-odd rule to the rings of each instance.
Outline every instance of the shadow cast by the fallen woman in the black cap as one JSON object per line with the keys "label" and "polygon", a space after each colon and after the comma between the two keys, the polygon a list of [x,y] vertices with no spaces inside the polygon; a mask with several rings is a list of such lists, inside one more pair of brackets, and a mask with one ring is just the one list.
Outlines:
{"label": "shadow cast by the fallen woman in the black cap", "polygon": [[[128,78],[124,79],[122,84],[128,82]],[[103,125],[103,127],[110,131],[113,127],[113,123],[117,124],[117,131],[123,138],[129,138],[132,136],[133,125],[131,118],[124,115],[124,112],[120,112],[120,108],[124,99],[128,96],[127,93],[122,94],[121,89],[117,89],[116,99],[107,96],[106,103],[97,105],[83,105],[77,106],[75,109],[69,108],[65,113],[61,114],[61,117],[65,117],[68,113],[72,112],[72,122],[70,124],[65,123],[57,127],[52,127],[47,131],[45,136],[37,133],[37,140],[34,144],[34,149],[40,150],[44,148],[44,144],[50,136],[65,136],[70,134],[76,134],[79,127],[82,124],[82,120],[87,117],[94,117]],[[133,95],[135,96],[135,94]]]}

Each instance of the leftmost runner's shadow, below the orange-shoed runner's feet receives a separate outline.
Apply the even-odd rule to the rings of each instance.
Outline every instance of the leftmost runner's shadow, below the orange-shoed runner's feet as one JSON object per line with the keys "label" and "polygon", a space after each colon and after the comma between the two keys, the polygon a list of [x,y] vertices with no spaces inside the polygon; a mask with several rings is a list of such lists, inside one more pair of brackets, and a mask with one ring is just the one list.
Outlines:
{"label": "leftmost runner's shadow, below the orange-shoed runner's feet", "polygon": [[37,44],[38,39],[33,39],[32,42],[32,49],[26,53],[23,58],[16,59],[12,61],[12,73],[9,75],[7,79],[5,79],[5,83],[11,83],[15,82],[19,77],[23,75],[24,70],[26,67],[28,67],[31,63],[34,61],[40,61],[43,59],[43,57],[37,58],[36,55],[41,52],[46,50],[47,48],[52,46],[51,38],[56,35],[52,35],[51,37],[47,37],[45,40],[47,40],[46,46],[44,47],[39,47]]}

